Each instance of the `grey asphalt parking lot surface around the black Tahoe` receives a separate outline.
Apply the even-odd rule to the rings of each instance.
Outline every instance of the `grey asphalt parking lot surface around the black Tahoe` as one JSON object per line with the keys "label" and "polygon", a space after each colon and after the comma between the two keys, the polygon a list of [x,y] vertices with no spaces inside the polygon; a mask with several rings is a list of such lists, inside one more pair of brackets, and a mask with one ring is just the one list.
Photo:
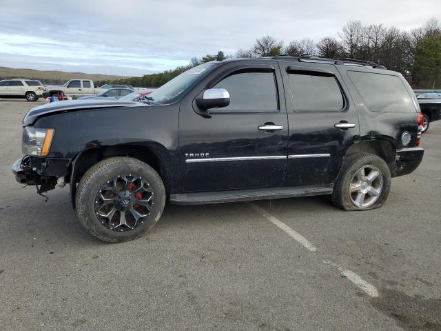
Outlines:
{"label": "grey asphalt parking lot surface around the black Tahoe", "polygon": [[107,244],[67,187],[44,203],[14,180],[33,106],[0,100],[0,330],[441,330],[441,121],[378,210],[166,205],[146,237]]}

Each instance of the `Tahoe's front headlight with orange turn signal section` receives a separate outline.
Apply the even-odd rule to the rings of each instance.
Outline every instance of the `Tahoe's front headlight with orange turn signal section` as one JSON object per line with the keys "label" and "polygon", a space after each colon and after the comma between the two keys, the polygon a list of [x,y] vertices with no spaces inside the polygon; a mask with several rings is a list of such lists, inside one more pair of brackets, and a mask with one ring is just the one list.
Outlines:
{"label": "Tahoe's front headlight with orange turn signal section", "polygon": [[21,141],[21,151],[26,155],[37,157],[48,156],[50,144],[54,137],[54,129],[34,128],[26,126],[23,128],[23,139]]}

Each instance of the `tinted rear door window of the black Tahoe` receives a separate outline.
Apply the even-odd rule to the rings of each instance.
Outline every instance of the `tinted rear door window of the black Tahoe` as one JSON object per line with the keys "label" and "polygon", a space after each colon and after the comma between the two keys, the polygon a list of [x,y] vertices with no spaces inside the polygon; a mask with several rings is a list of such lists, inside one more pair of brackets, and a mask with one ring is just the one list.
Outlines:
{"label": "tinted rear door window of the black Tahoe", "polygon": [[345,99],[336,77],[325,72],[289,72],[295,112],[342,112]]}

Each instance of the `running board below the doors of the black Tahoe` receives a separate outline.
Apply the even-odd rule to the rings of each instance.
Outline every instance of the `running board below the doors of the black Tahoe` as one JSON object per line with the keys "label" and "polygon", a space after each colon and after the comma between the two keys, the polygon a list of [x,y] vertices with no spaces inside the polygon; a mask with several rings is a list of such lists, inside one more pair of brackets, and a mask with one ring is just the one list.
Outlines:
{"label": "running board below the doors of the black Tahoe", "polygon": [[205,205],[209,203],[309,197],[331,193],[332,185],[296,186],[290,188],[252,188],[247,190],[170,194],[170,203],[174,205]]}

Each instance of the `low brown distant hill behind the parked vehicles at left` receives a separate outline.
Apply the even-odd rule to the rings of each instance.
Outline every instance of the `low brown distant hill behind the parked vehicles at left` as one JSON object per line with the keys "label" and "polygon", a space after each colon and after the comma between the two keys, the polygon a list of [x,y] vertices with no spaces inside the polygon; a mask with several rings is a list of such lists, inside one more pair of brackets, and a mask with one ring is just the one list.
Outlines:
{"label": "low brown distant hill behind the parked vehicles at left", "polygon": [[129,77],[112,76],[110,74],[85,74],[83,72],[43,71],[0,67],[0,80],[10,78],[38,79],[43,84],[60,84],[65,83],[69,79],[92,79],[93,81],[107,81]]}

